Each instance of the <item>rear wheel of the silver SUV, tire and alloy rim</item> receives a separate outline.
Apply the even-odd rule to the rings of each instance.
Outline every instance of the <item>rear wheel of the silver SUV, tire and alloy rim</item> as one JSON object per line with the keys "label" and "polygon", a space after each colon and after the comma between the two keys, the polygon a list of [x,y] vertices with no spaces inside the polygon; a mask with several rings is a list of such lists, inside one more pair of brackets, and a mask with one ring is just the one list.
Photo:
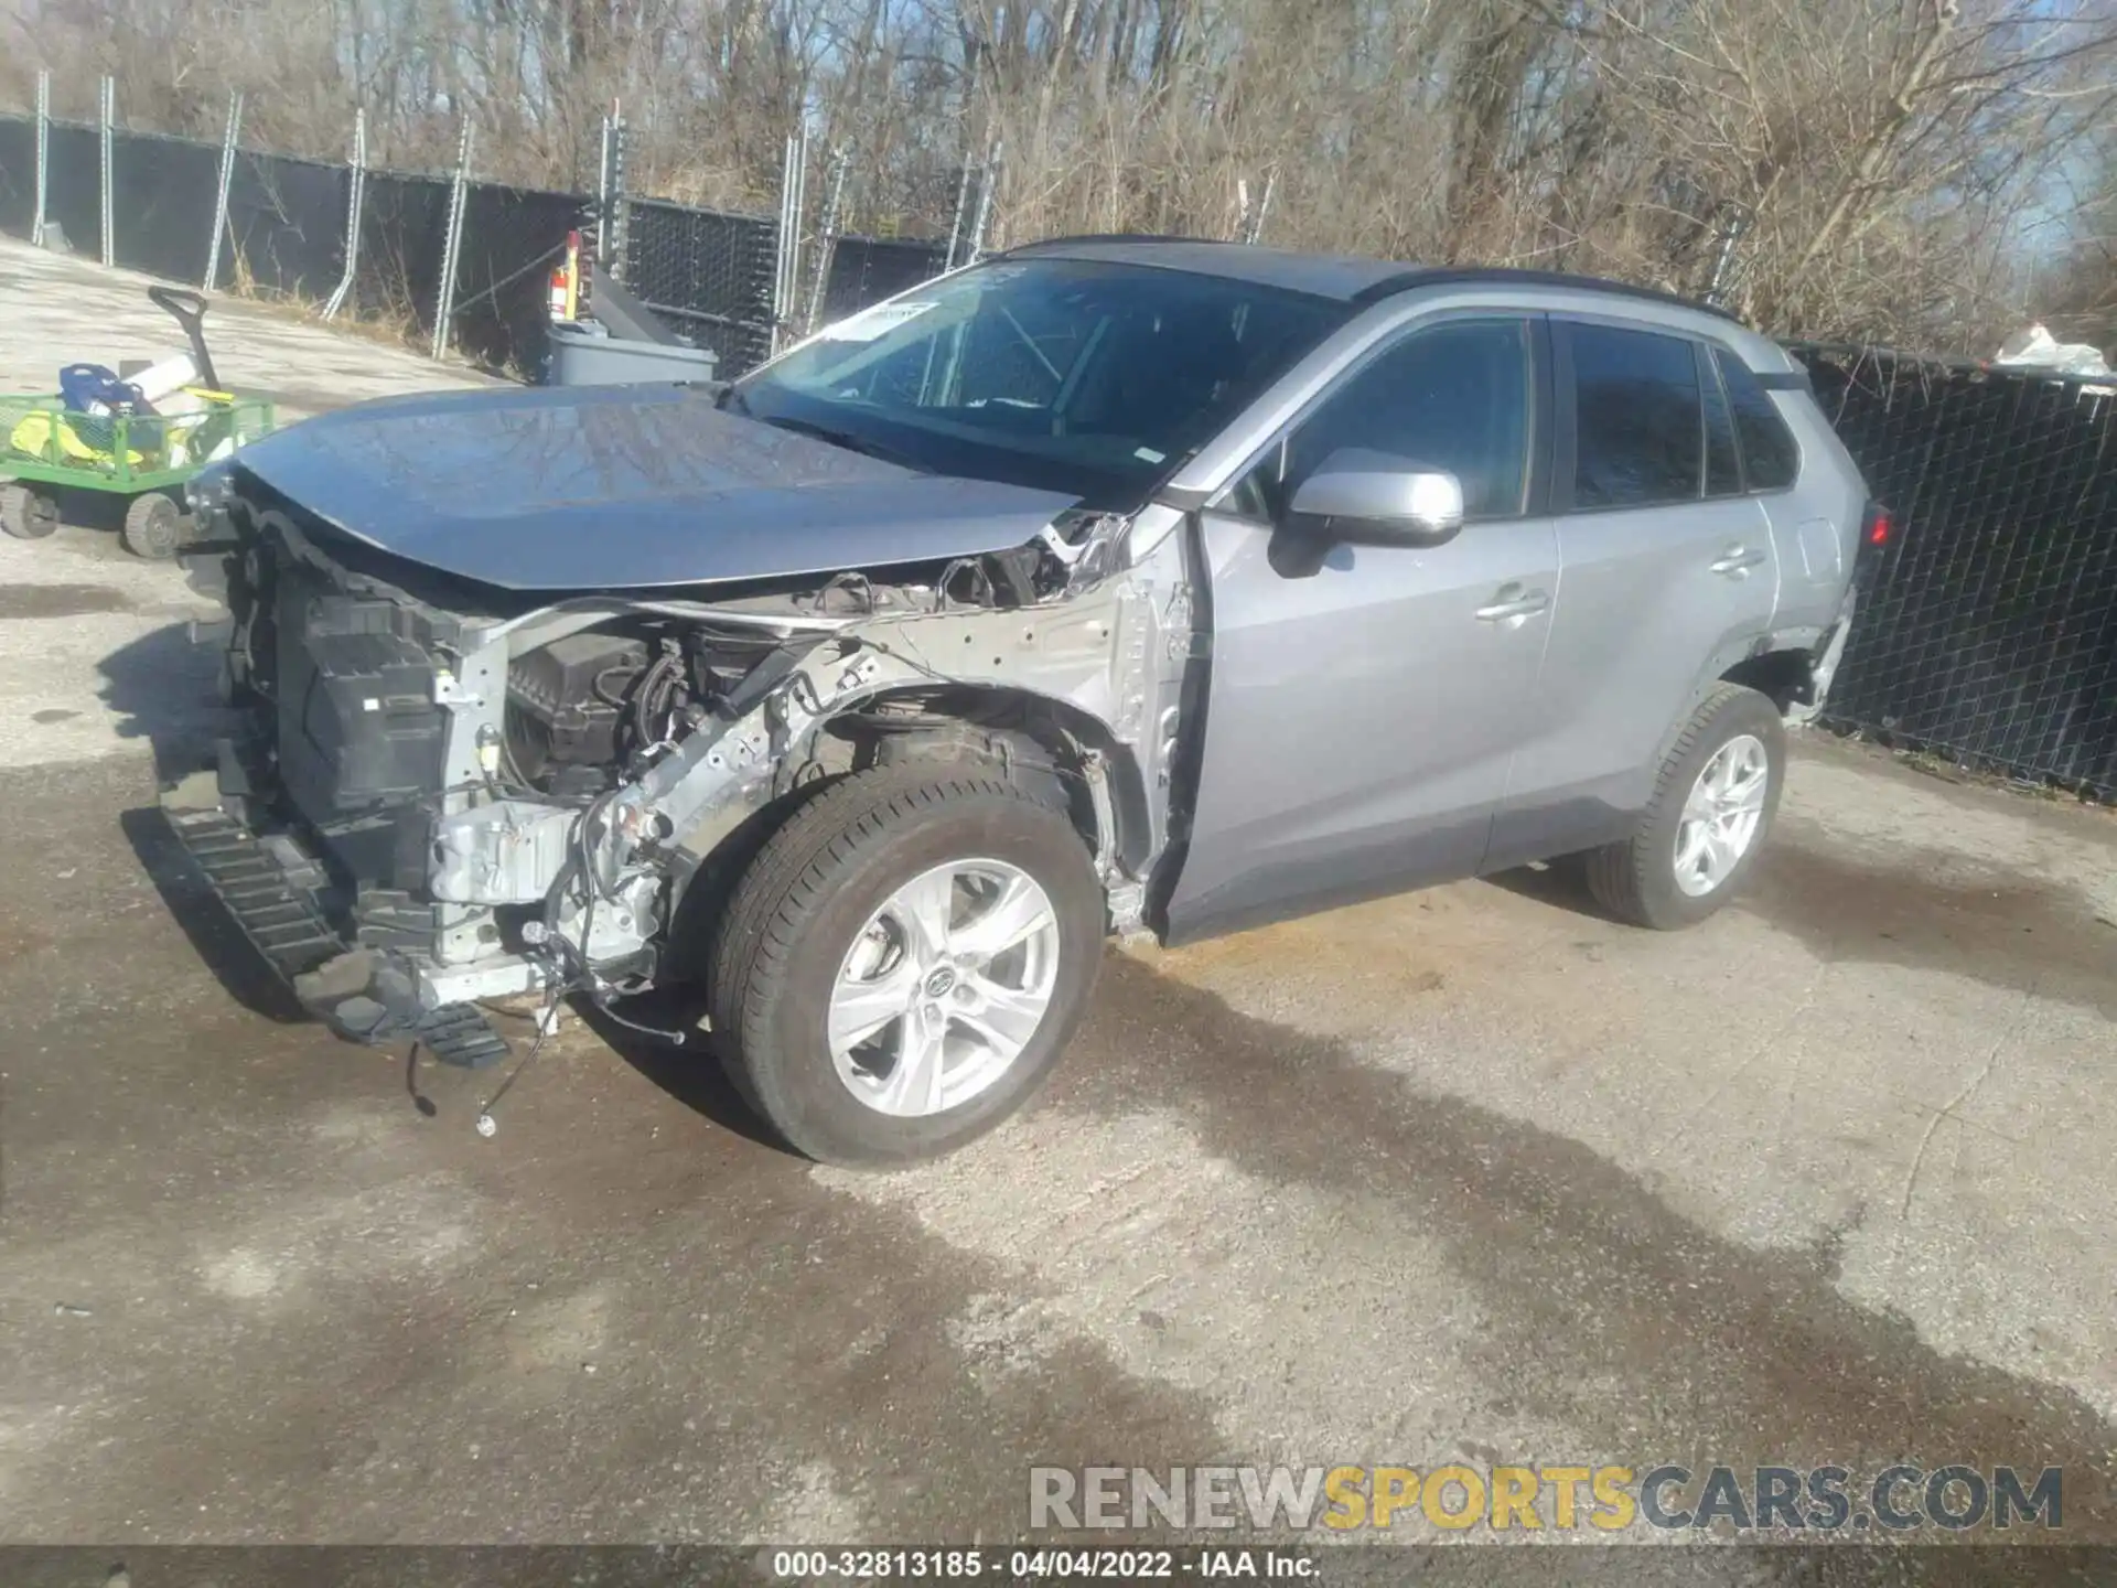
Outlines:
{"label": "rear wheel of the silver SUV, tire and alloy rim", "polygon": [[1588,853],[1611,915],[1662,932],[1696,925],[1749,879],[1787,775],[1787,728],[1757,690],[1715,684],[1683,724],[1639,832]]}

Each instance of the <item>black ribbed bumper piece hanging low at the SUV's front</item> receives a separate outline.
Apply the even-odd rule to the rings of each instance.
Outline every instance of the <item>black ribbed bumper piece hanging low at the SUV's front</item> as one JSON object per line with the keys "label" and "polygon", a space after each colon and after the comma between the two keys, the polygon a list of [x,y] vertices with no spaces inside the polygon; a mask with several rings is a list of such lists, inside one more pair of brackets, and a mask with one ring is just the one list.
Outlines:
{"label": "black ribbed bumper piece hanging low at the SUV's front", "polygon": [[186,802],[182,786],[163,815],[184,853],[243,936],[301,1006],[343,1037],[373,1046],[417,1042],[445,1065],[485,1069],[508,1057],[506,1040],[474,1004],[419,1008],[411,972],[387,953],[347,949],[279,858],[218,805]]}

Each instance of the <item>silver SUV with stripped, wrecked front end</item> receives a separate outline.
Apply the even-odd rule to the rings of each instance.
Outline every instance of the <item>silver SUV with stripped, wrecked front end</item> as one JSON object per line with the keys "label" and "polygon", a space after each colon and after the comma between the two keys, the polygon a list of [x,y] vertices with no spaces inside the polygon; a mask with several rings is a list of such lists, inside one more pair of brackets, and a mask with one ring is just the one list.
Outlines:
{"label": "silver SUV with stripped, wrecked front end", "polygon": [[1573,853],[1704,919],[1886,534],[1706,309],[1145,239],[724,387],[362,404],[195,506],[248,726],[165,807],[301,999],[487,1063],[489,999],[692,987],[853,1165],[1020,1107],[1109,932]]}

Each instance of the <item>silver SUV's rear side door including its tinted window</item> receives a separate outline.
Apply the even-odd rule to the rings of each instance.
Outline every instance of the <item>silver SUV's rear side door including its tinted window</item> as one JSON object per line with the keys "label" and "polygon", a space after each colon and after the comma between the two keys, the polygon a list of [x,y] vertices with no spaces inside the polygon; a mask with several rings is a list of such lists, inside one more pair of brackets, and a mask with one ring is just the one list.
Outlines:
{"label": "silver SUV's rear side door including its tinted window", "polygon": [[1552,318],[1562,601],[1486,870],[1624,836],[1704,682],[1772,627],[1780,559],[1711,349]]}

